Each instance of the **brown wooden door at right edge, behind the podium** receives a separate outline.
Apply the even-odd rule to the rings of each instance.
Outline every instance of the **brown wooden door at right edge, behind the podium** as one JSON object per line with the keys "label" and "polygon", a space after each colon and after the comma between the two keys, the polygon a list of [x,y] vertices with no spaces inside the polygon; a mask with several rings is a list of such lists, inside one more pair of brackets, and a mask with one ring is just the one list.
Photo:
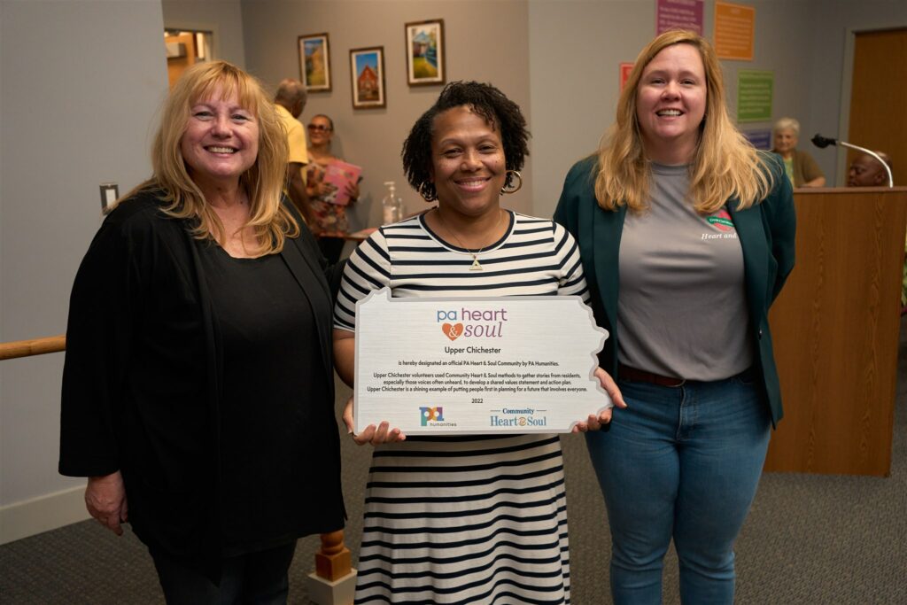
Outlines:
{"label": "brown wooden door at right edge, behind the podium", "polygon": [[[858,32],[853,44],[847,142],[891,156],[895,185],[907,185],[907,27]],[[859,155],[850,151],[847,165]],[[846,174],[844,175],[846,179]]]}

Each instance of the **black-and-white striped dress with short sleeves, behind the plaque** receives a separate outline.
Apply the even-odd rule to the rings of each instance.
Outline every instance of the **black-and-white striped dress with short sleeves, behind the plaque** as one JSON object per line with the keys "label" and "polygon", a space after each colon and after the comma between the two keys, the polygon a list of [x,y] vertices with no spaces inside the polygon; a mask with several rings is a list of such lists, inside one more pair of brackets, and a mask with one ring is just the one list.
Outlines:
{"label": "black-and-white striped dress with short sleeves, behind the plaque", "polygon": [[[383,227],[346,266],[335,327],[356,300],[580,295],[579,249],[551,220],[508,212],[502,239],[472,256],[414,217]],[[375,447],[356,603],[569,603],[561,442],[552,434],[409,436]]]}

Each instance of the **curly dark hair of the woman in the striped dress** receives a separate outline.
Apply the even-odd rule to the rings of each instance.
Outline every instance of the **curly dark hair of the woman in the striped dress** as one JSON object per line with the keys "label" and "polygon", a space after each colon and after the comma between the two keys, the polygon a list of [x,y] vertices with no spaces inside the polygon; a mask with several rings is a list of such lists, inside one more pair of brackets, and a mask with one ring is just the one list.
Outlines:
{"label": "curly dark hair of the woman in the striped dress", "polygon": [[[529,131],[520,106],[491,84],[452,82],[444,86],[438,100],[413,124],[413,130],[403,143],[403,170],[414,190],[434,197],[432,177],[432,134],[434,118],[454,107],[467,105],[481,115],[492,129],[500,129],[504,164],[509,171],[519,171],[529,155]],[[507,175],[504,187],[511,184]]]}

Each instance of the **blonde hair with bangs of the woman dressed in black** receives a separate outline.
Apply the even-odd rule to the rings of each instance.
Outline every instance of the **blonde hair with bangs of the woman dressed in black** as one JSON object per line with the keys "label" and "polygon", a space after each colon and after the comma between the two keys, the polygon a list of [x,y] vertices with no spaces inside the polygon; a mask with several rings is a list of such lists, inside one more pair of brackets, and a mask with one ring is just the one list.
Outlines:
{"label": "blonde hair with bangs of the woman dressed in black", "polygon": [[161,108],[161,127],[151,147],[154,176],[140,188],[158,186],[164,190],[163,200],[168,205],[163,211],[176,219],[194,220],[192,235],[196,239],[225,241],[223,223],[192,181],[180,148],[190,107],[218,89],[223,99],[236,94],[239,104],[256,116],[258,156],[239,177],[249,195],[249,221],[243,229],[251,227],[255,232],[255,256],[279,252],[286,238],[299,234],[297,221],[280,201],[287,173],[287,134],[261,83],[236,65],[224,61],[197,63],[182,74]]}

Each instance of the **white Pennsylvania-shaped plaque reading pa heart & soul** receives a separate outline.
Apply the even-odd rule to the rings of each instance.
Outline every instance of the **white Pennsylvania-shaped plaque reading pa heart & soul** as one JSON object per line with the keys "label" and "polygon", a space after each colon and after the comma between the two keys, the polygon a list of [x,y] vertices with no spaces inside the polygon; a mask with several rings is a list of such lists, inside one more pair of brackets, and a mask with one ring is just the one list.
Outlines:
{"label": "white Pennsylvania-shaped plaque reading pa heart & soul", "polygon": [[593,376],[608,333],[580,297],[356,304],[356,433],[569,433],[612,404]]}

